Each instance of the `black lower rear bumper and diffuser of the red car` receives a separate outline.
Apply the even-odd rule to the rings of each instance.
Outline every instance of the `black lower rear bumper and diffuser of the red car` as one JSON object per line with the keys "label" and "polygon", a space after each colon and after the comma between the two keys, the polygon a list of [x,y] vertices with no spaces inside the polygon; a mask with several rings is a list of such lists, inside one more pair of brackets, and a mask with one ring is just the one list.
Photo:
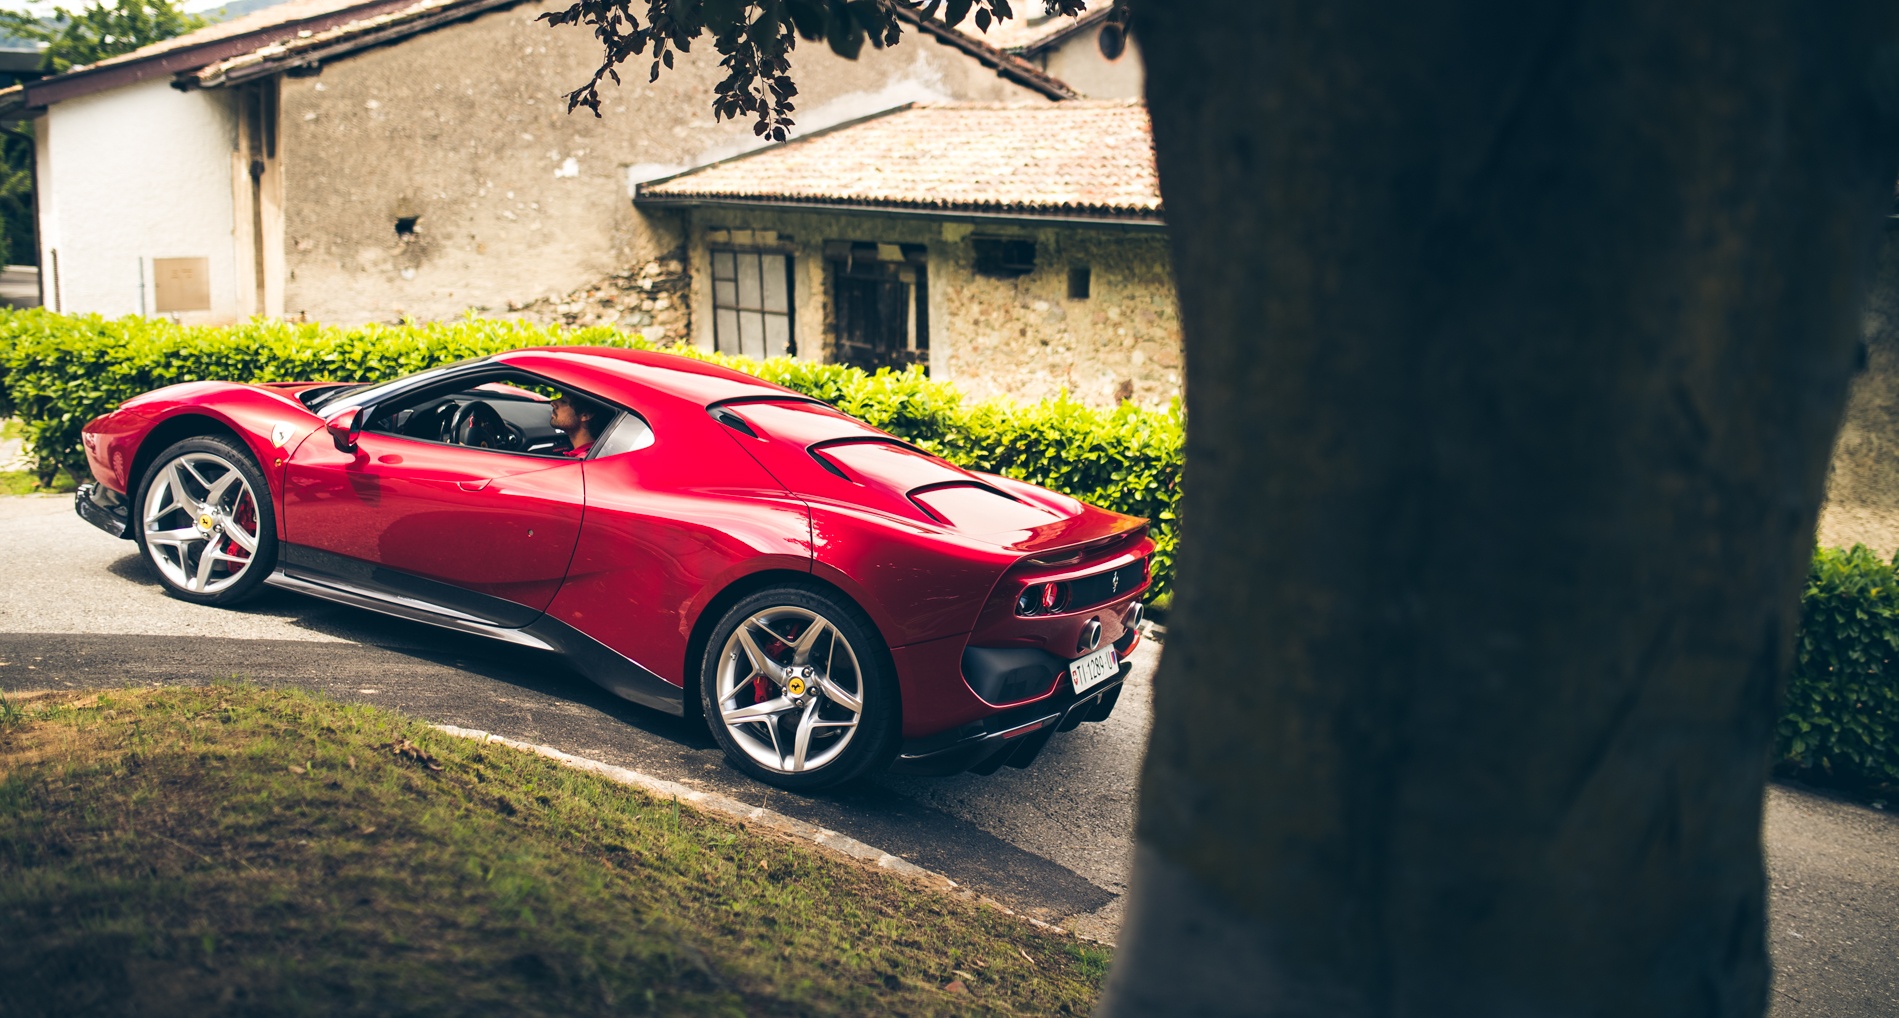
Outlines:
{"label": "black lower rear bumper and diffuser of the red car", "polygon": [[1122,661],[1115,678],[1075,695],[1073,689],[1027,703],[963,727],[910,739],[898,750],[891,769],[917,775],[953,775],[974,771],[989,775],[1008,764],[1027,767],[1041,756],[1048,737],[1069,731],[1082,722],[1105,722],[1120,701],[1120,686],[1134,665]]}

